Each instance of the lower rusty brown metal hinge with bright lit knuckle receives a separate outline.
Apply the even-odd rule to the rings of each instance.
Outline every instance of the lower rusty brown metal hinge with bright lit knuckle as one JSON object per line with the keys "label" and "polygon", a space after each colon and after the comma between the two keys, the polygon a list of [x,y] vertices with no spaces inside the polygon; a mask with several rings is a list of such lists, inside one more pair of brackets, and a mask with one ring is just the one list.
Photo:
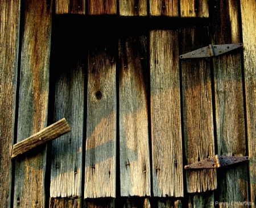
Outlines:
{"label": "lower rusty brown metal hinge with bright lit knuckle", "polygon": [[220,168],[226,165],[233,165],[249,160],[248,156],[219,156],[208,157],[208,159],[185,165],[185,169],[205,169],[205,168]]}

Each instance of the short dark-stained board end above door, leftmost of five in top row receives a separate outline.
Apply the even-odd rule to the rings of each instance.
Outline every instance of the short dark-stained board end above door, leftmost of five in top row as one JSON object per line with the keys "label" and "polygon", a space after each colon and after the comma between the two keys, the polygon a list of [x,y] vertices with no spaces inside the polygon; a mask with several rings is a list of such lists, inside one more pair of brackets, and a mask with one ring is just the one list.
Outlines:
{"label": "short dark-stained board end above door, leftmost of five in top row", "polygon": [[56,14],[85,14],[85,0],[56,0]]}

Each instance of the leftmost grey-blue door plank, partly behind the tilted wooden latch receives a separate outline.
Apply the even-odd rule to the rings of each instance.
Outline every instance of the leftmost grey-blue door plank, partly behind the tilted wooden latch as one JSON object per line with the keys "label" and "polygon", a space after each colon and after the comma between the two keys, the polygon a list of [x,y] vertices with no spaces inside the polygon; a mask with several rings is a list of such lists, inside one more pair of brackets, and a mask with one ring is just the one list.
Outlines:
{"label": "leftmost grey-blue door plank, partly behind the tilted wooden latch", "polygon": [[81,23],[71,22],[60,20],[55,24],[52,45],[52,75],[56,86],[53,119],[55,122],[65,118],[72,131],[52,142],[50,197],[77,198],[82,195],[85,40],[79,29]]}

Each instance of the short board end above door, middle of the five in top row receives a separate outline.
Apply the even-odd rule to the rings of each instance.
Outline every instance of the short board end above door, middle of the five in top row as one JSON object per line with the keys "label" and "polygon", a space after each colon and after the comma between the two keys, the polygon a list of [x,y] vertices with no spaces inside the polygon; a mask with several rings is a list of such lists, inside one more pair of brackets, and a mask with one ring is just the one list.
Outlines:
{"label": "short board end above door, middle of the five in top row", "polygon": [[119,0],[120,16],[147,16],[147,0]]}

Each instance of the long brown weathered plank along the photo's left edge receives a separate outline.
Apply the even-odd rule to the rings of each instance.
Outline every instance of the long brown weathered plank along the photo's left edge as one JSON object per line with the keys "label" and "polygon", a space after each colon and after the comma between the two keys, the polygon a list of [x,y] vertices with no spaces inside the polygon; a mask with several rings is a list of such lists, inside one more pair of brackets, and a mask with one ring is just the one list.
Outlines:
{"label": "long brown weathered plank along the photo's left edge", "polygon": [[20,1],[0,1],[0,202],[10,207]]}

